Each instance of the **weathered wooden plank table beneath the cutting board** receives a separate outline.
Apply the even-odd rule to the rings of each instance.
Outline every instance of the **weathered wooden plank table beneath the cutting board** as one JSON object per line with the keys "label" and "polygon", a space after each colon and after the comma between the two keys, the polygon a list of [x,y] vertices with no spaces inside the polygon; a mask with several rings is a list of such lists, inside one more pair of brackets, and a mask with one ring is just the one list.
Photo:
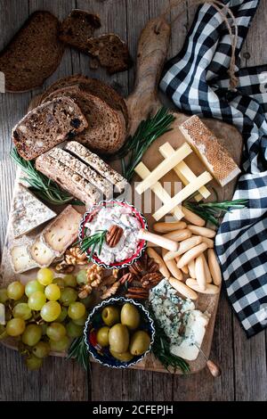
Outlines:
{"label": "weathered wooden plank table beneath the cutting board", "polygon": [[[48,10],[59,19],[78,7],[101,16],[102,32],[114,31],[127,40],[135,56],[144,24],[162,12],[169,0],[0,0],[0,49],[28,15]],[[196,11],[185,1],[181,17],[172,28],[169,56],[178,53]],[[241,55],[242,65],[267,62],[267,1],[262,0]],[[104,70],[89,70],[88,58],[67,49],[58,70],[45,83],[72,73],[97,76],[124,95],[131,92],[134,70],[108,77]],[[12,200],[15,167],[9,158],[12,126],[24,115],[38,93],[0,94],[1,206],[0,240],[4,235]],[[20,355],[0,345],[0,400],[266,400],[266,333],[247,340],[232,313],[225,293],[221,297],[211,357],[223,374],[213,379],[206,370],[190,377],[143,371],[117,371],[93,365],[92,380],[73,361],[49,357],[38,372],[28,372]]]}

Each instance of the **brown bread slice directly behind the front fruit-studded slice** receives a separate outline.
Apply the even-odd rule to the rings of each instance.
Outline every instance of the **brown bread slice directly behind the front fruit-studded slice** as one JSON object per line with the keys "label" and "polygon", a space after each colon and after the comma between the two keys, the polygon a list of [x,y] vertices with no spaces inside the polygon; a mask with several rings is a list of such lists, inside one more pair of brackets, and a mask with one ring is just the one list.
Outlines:
{"label": "brown bread slice directly behind the front fruit-studded slice", "polygon": [[76,137],[76,141],[101,154],[114,154],[125,143],[125,119],[121,112],[114,111],[108,103],[89,94],[78,86],[65,87],[53,92],[47,100],[69,97],[81,109],[88,127]]}

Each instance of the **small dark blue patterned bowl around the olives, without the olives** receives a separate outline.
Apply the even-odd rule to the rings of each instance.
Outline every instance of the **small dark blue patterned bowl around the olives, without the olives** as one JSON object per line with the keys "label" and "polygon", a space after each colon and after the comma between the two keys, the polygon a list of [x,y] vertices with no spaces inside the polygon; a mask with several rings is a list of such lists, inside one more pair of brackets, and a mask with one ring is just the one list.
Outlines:
{"label": "small dark blue patterned bowl around the olives, without the olives", "polygon": [[[102,348],[96,342],[96,330],[104,325],[101,319],[101,311],[104,307],[110,305],[123,306],[126,302],[133,304],[138,309],[141,316],[141,326],[139,330],[144,330],[145,332],[149,333],[150,348],[144,354],[134,357],[131,361],[122,362],[115,357],[112,357],[109,352],[109,348]],[[92,357],[102,366],[110,366],[112,368],[128,368],[129,366],[135,366],[135,364],[140,362],[150,352],[154,341],[155,327],[154,322],[150,317],[149,311],[146,310],[142,304],[134,300],[125,299],[124,297],[117,297],[104,300],[101,302],[101,304],[93,308],[93,311],[90,313],[85,323],[84,336],[86,348]]]}

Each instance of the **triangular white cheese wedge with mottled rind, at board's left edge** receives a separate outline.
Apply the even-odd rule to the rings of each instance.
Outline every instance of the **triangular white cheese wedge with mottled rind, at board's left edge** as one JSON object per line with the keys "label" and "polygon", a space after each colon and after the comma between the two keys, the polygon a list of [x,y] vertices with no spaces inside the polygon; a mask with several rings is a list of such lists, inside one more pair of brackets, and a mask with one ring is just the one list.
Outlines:
{"label": "triangular white cheese wedge with mottled rind, at board's left edge", "polygon": [[27,187],[18,185],[12,203],[12,228],[15,238],[30,233],[55,216],[56,213],[30,193]]}

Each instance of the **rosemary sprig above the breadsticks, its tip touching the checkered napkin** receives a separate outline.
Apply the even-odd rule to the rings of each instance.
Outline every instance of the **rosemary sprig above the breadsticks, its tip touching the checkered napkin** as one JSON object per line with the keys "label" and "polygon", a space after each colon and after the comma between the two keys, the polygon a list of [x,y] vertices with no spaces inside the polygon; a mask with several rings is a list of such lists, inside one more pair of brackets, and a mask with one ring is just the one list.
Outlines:
{"label": "rosemary sprig above the breadsticks, its tip touching the checkered napkin", "polygon": [[183,205],[191,211],[198,214],[199,217],[219,226],[219,220],[222,213],[231,212],[233,209],[242,209],[247,206],[247,200],[233,200],[233,201],[213,201],[213,202],[191,202],[184,201]]}

